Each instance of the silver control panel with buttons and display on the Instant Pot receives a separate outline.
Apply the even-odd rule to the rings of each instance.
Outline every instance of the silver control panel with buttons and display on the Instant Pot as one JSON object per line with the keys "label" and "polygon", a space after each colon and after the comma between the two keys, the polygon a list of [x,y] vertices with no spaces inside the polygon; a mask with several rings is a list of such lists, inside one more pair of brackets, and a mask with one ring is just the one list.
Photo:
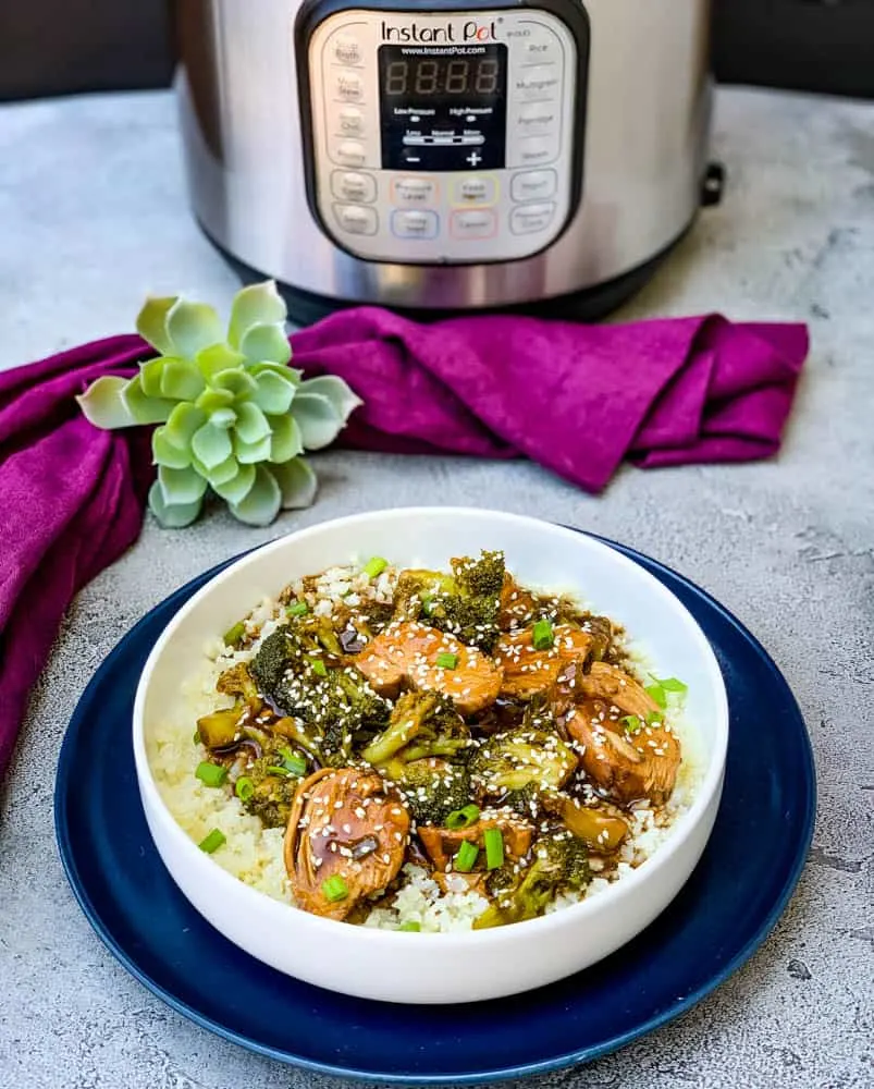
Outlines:
{"label": "silver control panel with buttons and display on the Instant Pot", "polygon": [[582,125],[578,44],[556,15],[349,9],[307,50],[311,196],[344,249],[505,261],[562,232]]}

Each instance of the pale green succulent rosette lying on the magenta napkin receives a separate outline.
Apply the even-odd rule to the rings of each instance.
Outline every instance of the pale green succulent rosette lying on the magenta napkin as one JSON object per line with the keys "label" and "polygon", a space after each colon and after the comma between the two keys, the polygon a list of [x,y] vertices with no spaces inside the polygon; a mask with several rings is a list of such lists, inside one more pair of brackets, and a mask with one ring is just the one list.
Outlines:
{"label": "pale green succulent rosette lying on the magenta napkin", "polygon": [[312,503],[316,474],[301,454],[333,442],[361,401],[341,378],[305,381],[288,366],[285,319],[272,281],[237,293],[226,332],[211,306],[149,298],[136,328],[157,358],[77,397],[97,427],[159,425],[149,506],[161,525],[194,522],[208,489],[253,526]]}

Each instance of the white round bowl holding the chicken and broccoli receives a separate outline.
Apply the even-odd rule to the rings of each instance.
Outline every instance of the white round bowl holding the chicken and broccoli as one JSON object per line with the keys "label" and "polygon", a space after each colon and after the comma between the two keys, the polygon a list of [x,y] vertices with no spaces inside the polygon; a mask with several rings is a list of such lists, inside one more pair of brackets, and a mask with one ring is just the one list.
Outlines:
{"label": "white round bowl holding the chicken and broccoli", "polygon": [[[657,676],[688,685],[688,720],[703,775],[672,836],[638,869],[573,907],[493,930],[403,933],[319,918],[232,877],[175,822],[146,756],[146,738],[202,663],[205,643],[294,578],[355,556],[441,567],[455,555],[503,549],[524,584],[566,586],[621,622]],[[698,862],[722,794],[728,706],[710,644],[682,604],[642,567],[582,534],[491,511],[379,511],[301,529],[259,548],[183,605],[149,656],[134,706],[134,751],[158,852],[194,907],[227,939],[280,971],[345,994],[389,1002],[473,1002],[515,994],[587,968],[643,930]]]}

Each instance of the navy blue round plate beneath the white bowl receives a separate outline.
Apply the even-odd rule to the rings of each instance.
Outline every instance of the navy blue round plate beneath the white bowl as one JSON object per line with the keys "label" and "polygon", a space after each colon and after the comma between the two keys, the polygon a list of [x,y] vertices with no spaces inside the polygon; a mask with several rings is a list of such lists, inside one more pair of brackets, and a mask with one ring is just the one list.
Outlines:
{"label": "navy blue round plate beneath the white bowl", "polygon": [[73,892],[102,941],[155,994],[225,1039],[311,1070],[383,1084],[461,1085],[556,1070],[615,1051],[693,1006],[752,955],[786,907],[813,831],[813,758],[791,692],[749,632],[680,575],[613,547],[694,614],[718,657],[731,714],[725,793],[710,844],[674,903],[633,942],[527,995],[416,1007],[299,983],[206,922],[149,835],[131,714],[161,631],[224,565],[176,590],[122,639],[66,731],[56,785],[58,842]]}

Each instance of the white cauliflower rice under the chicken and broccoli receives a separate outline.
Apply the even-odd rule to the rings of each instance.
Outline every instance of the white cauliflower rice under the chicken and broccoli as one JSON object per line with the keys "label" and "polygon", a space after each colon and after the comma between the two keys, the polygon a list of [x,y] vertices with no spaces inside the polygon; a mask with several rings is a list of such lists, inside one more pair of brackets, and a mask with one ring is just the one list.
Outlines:
{"label": "white cauliflower rice under the chicken and broccoli", "polygon": [[[344,601],[356,605],[364,601],[391,602],[399,568],[389,566],[376,579],[358,563],[332,567],[316,580],[315,590],[305,592],[303,580],[292,585],[305,598],[316,615],[330,616],[334,604]],[[555,592],[540,588],[540,592]],[[567,589],[559,592],[567,594]],[[579,598],[575,595],[575,600]],[[186,683],[183,699],[159,724],[148,741],[148,758],[161,797],[173,818],[189,839],[199,843],[212,829],[219,829],[226,843],[211,857],[229,873],[274,900],[290,905],[294,898],[283,859],[284,830],[263,828],[233,795],[206,786],[195,776],[204,748],[194,738],[196,720],[233,700],[216,690],[219,675],[236,662],[249,661],[260,645],[278,626],[287,621],[276,599],[266,598],[245,621],[247,633],[255,637],[248,649],[231,651],[221,637],[204,648],[201,669]],[[625,650],[636,668],[647,671],[647,656],[640,647],[626,643]],[[654,809],[636,809],[627,815],[631,834],[619,847],[618,865],[610,877],[599,877],[599,859],[590,861],[593,877],[584,892],[564,895],[547,911],[596,896],[623,876],[650,858],[673,834],[678,818],[689,809],[703,775],[700,738],[682,713],[676,698],[669,708],[670,726],[682,748],[677,782],[667,804]],[[407,864],[405,881],[390,906],[373,908],[364,926],[397,930],[402,925],[419,923],[422,932],[470,930],[488,901],[466,886],[442,893],[428,871]],[[452,881],[452,879],[450,879]],[[464,882],[461,882],[464,885]]]}

